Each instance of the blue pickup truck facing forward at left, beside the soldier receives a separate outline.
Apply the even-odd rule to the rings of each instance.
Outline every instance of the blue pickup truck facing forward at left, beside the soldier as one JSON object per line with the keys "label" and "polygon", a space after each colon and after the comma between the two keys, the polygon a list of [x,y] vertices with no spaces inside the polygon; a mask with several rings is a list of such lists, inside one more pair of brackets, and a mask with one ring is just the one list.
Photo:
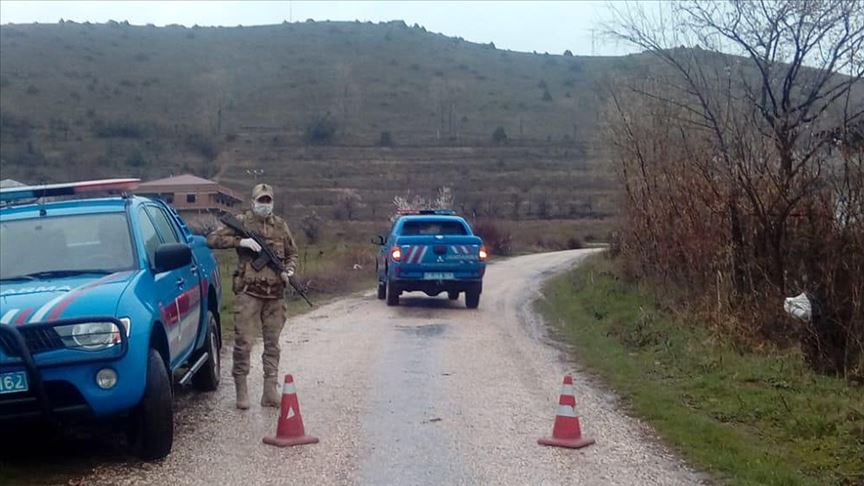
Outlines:
{"label": "blue pickup truck facing forward at left, beside the soldier", "polygon": [[172,208],[121,193],[136,181],[0,190],[0,427],[120,416],[157,459],[175,378],[219,386],[219,266]]}

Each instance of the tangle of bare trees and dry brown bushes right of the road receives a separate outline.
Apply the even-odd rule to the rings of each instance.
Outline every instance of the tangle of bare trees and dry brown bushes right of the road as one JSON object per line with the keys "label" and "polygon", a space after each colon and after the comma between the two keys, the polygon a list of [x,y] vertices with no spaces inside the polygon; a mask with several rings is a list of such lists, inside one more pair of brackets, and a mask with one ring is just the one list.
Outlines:
{"label": "tangle of bare trees and dry brown bushes right of the road", "polygon": [[[815,369],[864,376],[864,5],[675,8],[679,32],[745,57],[668,49],[644,19],[622,19],[673,74],[612,92],[621,254],[736,339],[797,340]],[[782,308],[802,291],[818,308],[804,324]]]}

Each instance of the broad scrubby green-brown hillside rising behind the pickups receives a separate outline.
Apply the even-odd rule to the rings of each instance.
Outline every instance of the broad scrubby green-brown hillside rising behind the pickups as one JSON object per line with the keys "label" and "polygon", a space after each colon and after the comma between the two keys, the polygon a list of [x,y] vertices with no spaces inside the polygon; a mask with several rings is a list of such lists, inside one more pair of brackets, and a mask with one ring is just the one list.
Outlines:
{"label": "broad scrubby green-brown hillside rising behind the pickups", "polygon": [[0,56],[3,177],[190,171],[245,189],[263,169],[299,211],[326,217],[355,193],[361,219],[440,185],[481,215],[608,216],[604,81],[649,62],[502,51],[402,22],[4,25]]}

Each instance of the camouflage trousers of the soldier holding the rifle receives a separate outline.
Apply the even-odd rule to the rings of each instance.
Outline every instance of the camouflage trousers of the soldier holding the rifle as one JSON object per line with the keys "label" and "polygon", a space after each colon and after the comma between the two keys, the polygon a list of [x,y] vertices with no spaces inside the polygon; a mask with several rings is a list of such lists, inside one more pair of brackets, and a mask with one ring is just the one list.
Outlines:
{"label": "camouflage trousers of the soldier holding the rifle", "polygon": [[279,335],[285,325],[288,312],[284,299],[259,299],[245,293],[234,297],[234,368],[235,377],[249,374],[249,357],[255,340],[255,329],[261,328],[264,338],[264,353],[261,362],[266,378],[279,374]]}

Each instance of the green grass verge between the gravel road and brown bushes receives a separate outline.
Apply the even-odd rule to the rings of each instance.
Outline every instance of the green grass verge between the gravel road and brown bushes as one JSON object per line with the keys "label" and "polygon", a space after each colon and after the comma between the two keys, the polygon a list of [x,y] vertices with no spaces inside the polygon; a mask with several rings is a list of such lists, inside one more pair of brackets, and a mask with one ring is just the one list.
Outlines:
{"label": "green grass verge between the gravel road and brown bushes", "polygon": [[864,484],[864,390],[795,350],[736,349],[673,317],[595,257],[547,283],[538,309],[575,360],[722,483]]}

